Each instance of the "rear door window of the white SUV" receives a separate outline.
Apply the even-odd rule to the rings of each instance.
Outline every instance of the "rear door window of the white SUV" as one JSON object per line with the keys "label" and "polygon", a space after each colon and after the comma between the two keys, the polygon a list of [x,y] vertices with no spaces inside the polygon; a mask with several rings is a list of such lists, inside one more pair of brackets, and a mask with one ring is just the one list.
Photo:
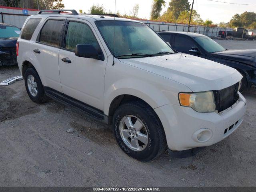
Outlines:
{"label": "rear door window of the white SUV", "polygon": [[48,20],[40,33],[40,42],[52,46],[60,46],[63,20]]}

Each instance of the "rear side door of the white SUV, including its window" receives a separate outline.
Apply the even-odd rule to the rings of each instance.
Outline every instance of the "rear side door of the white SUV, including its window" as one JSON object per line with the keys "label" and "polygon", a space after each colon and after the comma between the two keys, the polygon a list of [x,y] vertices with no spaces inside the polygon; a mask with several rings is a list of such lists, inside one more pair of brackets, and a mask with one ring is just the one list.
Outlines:
{"label": "rear side door of the white SUV, including its window", "polygon": [[36,54],[45,76],[46,84],[62,92],[59,73],[59,51],[64,21],[66,18],[50,17],[45,20],[37,41],[32,45],[32,52]]}

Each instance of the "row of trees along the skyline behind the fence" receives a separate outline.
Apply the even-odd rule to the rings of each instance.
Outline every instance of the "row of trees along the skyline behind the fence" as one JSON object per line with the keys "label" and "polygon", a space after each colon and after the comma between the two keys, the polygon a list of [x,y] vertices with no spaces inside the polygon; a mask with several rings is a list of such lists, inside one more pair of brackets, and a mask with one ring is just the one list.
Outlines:
{"label": "row of trees along the skyline behind the fence", "polygon": [[[32,9],[62,9],[64,4],[62,0],[0,0],[0,6],[32,8]],[[162,9],[166,7],[165,0],[153,0],[150,12],[150,20],[158,20],[162,22],[182,23],[188,24],[190,17],[190,3],[188,0],[170,0],[167,10],[161,14]],[[120,17],[140,19],[138,18],[139,4],[135,4],[129,14],[116,14]],[[85,12],[84,12],[85,13]],[[111,11],[106,12],[103,5],[93,5],[90,14],[112,14]],[[244,12],[242,14],[235,14],[227,23],[220,22],[218,25],[213,24],[212,20],[203,20],[196,10],[192,11],[191,24],[193,25],[207,25],[207,26],[220,26],[220,27],[245,27],[256,28],[256,13]]]}

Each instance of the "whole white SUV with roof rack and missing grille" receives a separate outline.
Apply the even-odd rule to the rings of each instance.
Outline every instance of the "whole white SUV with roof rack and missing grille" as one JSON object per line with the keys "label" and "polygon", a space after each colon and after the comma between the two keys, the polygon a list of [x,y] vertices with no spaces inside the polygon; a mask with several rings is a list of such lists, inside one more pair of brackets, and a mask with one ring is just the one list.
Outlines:
{"label": "whole white SUV with roof rack and missing grille", "polygon": [[235,69],[178,53],[141,22],[63,11],[29,16],[17,42],[34,102],[53,98],[112,124],[120,148],[142,161],[166,144],[194,154],[241,124]]}

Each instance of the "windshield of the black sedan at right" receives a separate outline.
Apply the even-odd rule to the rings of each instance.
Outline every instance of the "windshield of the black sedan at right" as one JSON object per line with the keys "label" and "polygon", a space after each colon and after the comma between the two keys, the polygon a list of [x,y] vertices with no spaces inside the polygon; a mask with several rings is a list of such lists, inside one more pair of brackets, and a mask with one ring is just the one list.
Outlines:
{"label": "windshield of the black sedan at right", "polygon": [[226,51],[226,49],[223,48],[220,44],[216,43],[214,40],[212,40],[207,36],[194,37],[194,39],[207,52],[213,53],[213,52]]}

